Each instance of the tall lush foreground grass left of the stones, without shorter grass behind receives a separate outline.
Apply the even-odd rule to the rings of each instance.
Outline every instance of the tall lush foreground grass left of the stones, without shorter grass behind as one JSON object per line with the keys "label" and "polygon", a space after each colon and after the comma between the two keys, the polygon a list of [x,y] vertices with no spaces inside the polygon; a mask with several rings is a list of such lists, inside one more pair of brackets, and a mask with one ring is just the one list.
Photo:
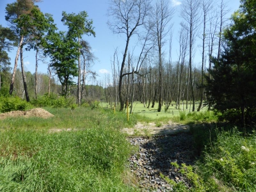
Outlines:
{"label": "tall lush foreground grass left of the stones, without shorter grass behind", "polygon": [[120,178],[129,143],[113,129],[7,131],[3,145],[1,191],[133,191]]}

